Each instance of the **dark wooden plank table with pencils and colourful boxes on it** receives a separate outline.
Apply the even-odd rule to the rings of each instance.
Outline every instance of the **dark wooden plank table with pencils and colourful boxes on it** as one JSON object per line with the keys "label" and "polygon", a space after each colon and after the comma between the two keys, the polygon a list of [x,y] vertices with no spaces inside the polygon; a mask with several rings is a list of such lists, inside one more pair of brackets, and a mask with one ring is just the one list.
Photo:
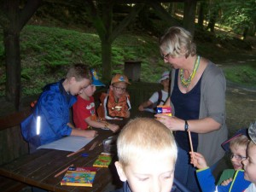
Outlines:
{"label": "dark wooden plank table with pencils and colourful boxes on it", "polygon": [[[141,115],[138,116],[148,116],[148,114],[141,113]],[[128,119],[116,121],[116,123],[122,127],[127,121]],[[102,143],[104,139],[117,134],[108,130],[96,130],[99,132],[99,135],[88,143],[84,147],[84,151],[79,154],[67,157],[67,154],[71,154],[72,152],[41,148],[33,154],[23,155],[16,160],[0,166],[0,175],[49,191],[102,192],[108,183],[113,182],[114,177],[118,178],[113,165],[114,158],[108,168],[98,169],[92,187],[61,186],[61,179],[65,172],[55,177],[55,174],[72,164],[73,166],[92,166],[97,156],[103,152],[103,145],[100,145],[100,143]],[[95,142],[97,142],[96,147],[90,150],[90,147]],[[83,153],[87,153],[89,156],[83,157],[81,155]]]}

